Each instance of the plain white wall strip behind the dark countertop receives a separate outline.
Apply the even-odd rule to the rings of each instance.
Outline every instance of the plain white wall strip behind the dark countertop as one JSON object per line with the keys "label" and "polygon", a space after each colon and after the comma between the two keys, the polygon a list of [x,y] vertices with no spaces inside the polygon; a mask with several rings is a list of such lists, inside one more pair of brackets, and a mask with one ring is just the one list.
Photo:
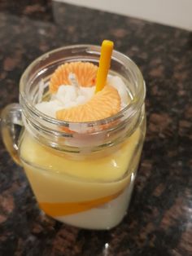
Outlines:
{"label": "plain white wall strip behind the dark countertop", "polygon": [[55,0],[192,31],[192,0]]}

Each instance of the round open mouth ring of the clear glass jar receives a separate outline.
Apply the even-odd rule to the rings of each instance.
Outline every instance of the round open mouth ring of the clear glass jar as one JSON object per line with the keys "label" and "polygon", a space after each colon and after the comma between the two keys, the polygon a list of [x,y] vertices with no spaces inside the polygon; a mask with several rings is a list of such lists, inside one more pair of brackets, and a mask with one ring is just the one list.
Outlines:
{"label": "round open mouth ring of the clear glass jar", "polygon": [[[119,113],[111,117],[107,117],[105,119],[97,120],[97,121],[82,121],[82,122],[74,122],[74,121],[61,121],[54,117],[49,117],[45,113],[41,113],[37,108],[35,108],[34,104],[32,104],[32,100],[29,99],[28,96],[28,88],[29,84],[33,83],[34,74],[33,70],[36,71],[35,76],[41,75],[41,73],[46,71],[46,68],[49,68],[46,65],[49,61],[51,55],[58,55],[60,51],[71,51],[72,56],[71,58],[61,58],[61,60],[65,61],[77,61],[81,59],[81,52],[85,51],[87,54],[94,54],[98,56],[98,60],[100,57],[100,50],[101,46],[94,46],[94,45],[72,45],[72,46],[63,46],[57,48],[53,51],[48,51],[44,55],[41,55],[36,60],[29,64],[28,68],[25,69],[22,77],[20,78],[20,103],[22,106],[28,111],[29,114],[32,114],[33,117],[41,119],[41,121],[45,121],[49,124],[56,125],[56,126],[85,126],[85,127],[94,127],[94,126],[103,126],[103,124],[110,124],[116,120],[120,120],[121,117],[132,117],[134,113],[137,112],[138,108],[142,107],[142,104],[146,97],[146,86],[145,82],[142,77],[142,73],[140,69],[137,67],[137,64],[133,62],[127,55],[120,53],[119,51],[113,51],[111,56],[111,61],[118,62],[122,66],[125,67],[124,70],[130,70],[131,68],[134,69],[134,76],[137,77],[137,88],[135,90],[135,94],[133,98],[127,106],[120,110]],[[76,54],[79,54],[79,57],[76,58]],[[60,56],[62,57],[62,56]],[[53,63],[50,63],[53,64]],[[61,61],[62,64],[62,61]],[[40,67],[41,68],[38,68]],[[131,70],[131,73],[132,70]],[[63,131],[66,134],[66,131]],[[71,132],[70,132],[71,133]]]}

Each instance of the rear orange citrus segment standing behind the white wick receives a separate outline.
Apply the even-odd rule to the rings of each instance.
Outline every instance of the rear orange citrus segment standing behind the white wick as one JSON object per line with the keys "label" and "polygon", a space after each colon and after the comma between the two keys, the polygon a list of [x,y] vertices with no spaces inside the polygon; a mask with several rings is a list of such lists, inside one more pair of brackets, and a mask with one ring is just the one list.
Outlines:
{"label": "rear orange citrus segment standing behind the white wick", "polygon": [[94,86],[97,72],[98,66],[89,62],[76,61],[62,64],[50,77],[50,93],[55,93],[61,85],[70,85],[71,82],[68,79],[70,73],[76,75],[80,86]]}

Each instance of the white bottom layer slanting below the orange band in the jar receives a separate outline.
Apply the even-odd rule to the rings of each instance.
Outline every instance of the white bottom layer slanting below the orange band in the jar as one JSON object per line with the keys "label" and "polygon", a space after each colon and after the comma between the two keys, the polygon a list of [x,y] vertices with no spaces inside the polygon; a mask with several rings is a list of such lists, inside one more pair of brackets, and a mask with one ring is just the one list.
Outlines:
{"label": "white bottom layer slanting below the orange band in the jar", "polygon": [[59,216],[55,219],[60,222],[87,229],[111,229],[124,218],[131,194],[133,191],[133,180],[125,188],[124,192],[116,199],[92,210],[86,210],[79,214]]}

